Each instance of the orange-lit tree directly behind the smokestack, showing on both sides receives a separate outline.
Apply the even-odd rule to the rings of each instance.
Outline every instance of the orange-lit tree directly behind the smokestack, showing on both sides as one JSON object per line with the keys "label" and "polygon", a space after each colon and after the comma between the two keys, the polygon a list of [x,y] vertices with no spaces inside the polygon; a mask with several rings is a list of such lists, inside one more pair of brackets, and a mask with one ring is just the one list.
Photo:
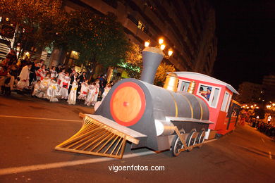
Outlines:
{"label": "orange-lit tree directly behind the smokestack, showing on both sides", "polygon": [[[142,70],[142,50],[138,44],[131,44],[130,49],[126,53],[126,63],[123,63],[123,68],[125,68],[130,77],[140,79]],[[166,79],[166,72],[174,72],[176,69],[173,65],[161,62],[157,68],[156,77],[154,79],[154,84],[162,87]]]}

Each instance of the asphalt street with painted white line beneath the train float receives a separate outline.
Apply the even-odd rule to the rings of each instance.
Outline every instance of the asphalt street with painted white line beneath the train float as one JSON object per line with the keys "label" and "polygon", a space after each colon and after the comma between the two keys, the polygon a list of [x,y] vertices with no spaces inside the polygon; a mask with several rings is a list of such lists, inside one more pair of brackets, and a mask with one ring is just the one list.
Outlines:
{"label": "asphalt street with painted white line beneath the train float", "polygon": [[[130,144],[121,160],[55,151],[80,130],[78,113],[94,110],[0,96],[0,182],[275,182],[275,141],[248,125],[176,158]],[[145,166],[164,170],[137,169]]]}

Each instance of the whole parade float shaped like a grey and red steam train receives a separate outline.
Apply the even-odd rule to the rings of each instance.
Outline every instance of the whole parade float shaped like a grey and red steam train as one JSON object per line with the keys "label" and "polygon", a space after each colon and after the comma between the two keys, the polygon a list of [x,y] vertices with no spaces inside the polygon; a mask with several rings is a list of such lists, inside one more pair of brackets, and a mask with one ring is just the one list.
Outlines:
{"label": "whole parade float shaped like a grey and red steam train", "polygon": [[153,85],[164,53],[142,51],[140,80],[117,82],[94,114],[81,114],[82,127],[56,150],[123,158],[131,148],[170,150],[173,156],[202,146],[204,139],[231,132],[238,121],[238,94],[230,84],[197,72],[171,72],[164,87]]}

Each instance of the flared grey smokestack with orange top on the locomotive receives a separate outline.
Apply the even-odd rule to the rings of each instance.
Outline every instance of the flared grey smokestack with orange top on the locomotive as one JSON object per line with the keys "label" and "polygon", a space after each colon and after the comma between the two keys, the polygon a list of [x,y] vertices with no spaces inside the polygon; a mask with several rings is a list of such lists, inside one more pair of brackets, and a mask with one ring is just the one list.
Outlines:
{"label": "flared grey smokestack with orange top on the locomotive", "polygon": [[140,80],[153,84],[162,58],[164,58],[164,53],[161,49],[150,46],[145,47],[142,51],[142,73]]}

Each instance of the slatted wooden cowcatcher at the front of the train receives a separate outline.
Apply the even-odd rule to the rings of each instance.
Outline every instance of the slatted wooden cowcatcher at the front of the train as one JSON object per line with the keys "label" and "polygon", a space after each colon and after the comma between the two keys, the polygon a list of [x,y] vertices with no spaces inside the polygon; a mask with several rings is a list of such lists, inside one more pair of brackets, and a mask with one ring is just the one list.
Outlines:
{"label": "slatted wooden cowcatcher at the front of the train", "polygon": [[[82,114],[80,113],[80,116],[81,115]],[[106,156],[110,158],[122,158],[126,146],[126,140],[132,141],[135,144],[138,144],[139,142],[138,139],[127,134],[127,132],[121,132],[123,129],[117,130],[117,127],[116,129],[111,127],[113,126],[113,121],[109,119],[100,115],[82,116],[84,118],[81,129],[73,135],[73,137],[56,146],[56,150]],[[91,118],[90,116],[103,120],[105,123],[99,122],[99,120]],[[114,126],[116,126],[116,124],[114,124]]]}

